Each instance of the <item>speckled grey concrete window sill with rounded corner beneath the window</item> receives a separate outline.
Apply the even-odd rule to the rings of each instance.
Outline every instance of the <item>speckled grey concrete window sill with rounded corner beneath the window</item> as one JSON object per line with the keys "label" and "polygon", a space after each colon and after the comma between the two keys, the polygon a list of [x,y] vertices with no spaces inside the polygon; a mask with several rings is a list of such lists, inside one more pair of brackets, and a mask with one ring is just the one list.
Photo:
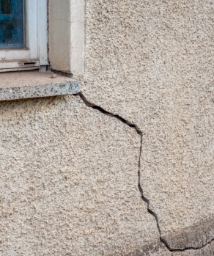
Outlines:
{"label": "speckled grey concrete window sill with rounded corner beneath the window", "polygon": [[51,71],[0,74],[0,101],[76,94],[78,81]]}

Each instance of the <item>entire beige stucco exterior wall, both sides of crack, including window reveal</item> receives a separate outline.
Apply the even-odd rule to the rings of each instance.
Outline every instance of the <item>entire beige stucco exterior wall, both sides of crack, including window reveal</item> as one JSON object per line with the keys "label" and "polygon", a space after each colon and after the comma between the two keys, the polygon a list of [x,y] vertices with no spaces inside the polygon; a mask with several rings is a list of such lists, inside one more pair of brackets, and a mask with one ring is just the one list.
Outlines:
{"label": "entire beige stucco exterior wall, both sides of crack, including window reveal", "polygon": [[49,4],[52,68],[108,113],[0,103],[1,255],[214,255],[213,1]]}

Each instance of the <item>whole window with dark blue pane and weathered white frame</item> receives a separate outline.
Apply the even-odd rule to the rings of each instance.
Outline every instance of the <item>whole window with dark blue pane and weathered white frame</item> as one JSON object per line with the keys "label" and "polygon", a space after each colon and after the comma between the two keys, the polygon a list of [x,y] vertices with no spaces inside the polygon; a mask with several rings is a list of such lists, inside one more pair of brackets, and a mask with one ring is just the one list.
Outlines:
{"label": "whole window with dark blue pane and weathered white frame", "polygon": [[47,0],[0,0],[0,72],[46,70]]}

